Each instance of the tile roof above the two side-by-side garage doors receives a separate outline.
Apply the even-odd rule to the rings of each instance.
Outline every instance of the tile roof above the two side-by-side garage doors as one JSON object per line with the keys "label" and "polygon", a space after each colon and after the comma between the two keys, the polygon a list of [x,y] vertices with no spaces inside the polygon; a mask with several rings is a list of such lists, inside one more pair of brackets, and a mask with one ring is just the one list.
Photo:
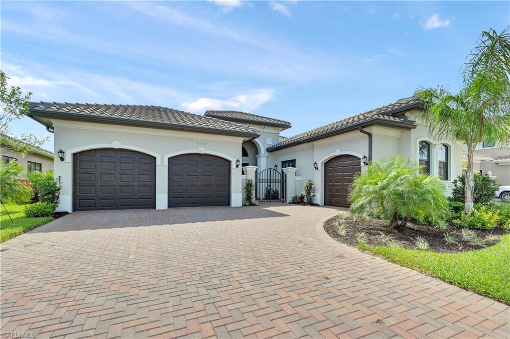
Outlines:
{"label": "tile roof above the two side-by-side garage doors", "polygon": [[[67,118],[107,118],[123,119],[137,124],[158,124],[170,129],[200,130],[201,132],[222,132],[227,134],[257,135],[254,128],[239,123],[224,121],[212,117],[192,114],[184,111],[141,105],[110,105],[98,103],[70,102],[30,102],[30,115],[41,115],[41,112]],[[208,131],[209,130],[209,131]]]}

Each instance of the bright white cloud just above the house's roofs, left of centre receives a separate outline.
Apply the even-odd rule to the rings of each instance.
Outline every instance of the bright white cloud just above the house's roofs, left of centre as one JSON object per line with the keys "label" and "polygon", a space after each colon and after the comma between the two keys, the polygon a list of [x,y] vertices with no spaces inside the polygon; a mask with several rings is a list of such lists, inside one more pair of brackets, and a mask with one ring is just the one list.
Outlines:
{"label": "bright white cloud just above the house's roofs, left of centre", "polygon": [[191,102],[183,102],[182,107],[193,113],[201,113],[207,110],[234,109],[237,111],[250,112],[259,108],[263,103],[272,100],[275,90],[262,88],[252,90],[228,99],[199,98]]}

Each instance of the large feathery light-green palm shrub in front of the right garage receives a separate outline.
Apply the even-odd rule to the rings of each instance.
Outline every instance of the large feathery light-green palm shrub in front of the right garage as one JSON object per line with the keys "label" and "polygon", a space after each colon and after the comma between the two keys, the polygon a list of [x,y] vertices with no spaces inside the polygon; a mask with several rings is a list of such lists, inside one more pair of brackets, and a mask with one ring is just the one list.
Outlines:
{"label": "large feathery light-green palm shrub in front of the right garage", "polygon": [[353,213],[388,220],[404,226],[411,219],[420,222],[444,220],[448,200],[436,177],[420,173],[398,155],[373,161],[352,182],[349,196]]}

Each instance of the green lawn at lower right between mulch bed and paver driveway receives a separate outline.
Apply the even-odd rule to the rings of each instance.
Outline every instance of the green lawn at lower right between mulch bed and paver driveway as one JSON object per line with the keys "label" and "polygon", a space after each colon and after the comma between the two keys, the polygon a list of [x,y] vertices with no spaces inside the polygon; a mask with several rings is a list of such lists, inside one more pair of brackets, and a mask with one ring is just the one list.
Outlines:
{"label": "green lawn at lower right between mulch bed and paver driveway", "polygon": [[359,245],[359,248],[510,305],[510,234],[501,237],[495,246],[463,253],[435,253],[365,244]]}

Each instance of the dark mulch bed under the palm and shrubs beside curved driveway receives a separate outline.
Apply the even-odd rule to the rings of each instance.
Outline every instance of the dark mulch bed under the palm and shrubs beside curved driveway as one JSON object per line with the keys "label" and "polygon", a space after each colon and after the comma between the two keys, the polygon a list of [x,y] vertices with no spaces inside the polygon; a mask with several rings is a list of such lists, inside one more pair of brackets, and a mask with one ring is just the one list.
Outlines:
{"label": "dark mulch bed under the palm and shrubs beside curved driveway", "polygon": [[[324,223],[324,230],[329,235],[329,237],[352,247],[358,246],[358,233],[365,232],[366,243],[367,245],[372,246],[388,246],[387,243],[379,239],[381,233],[384,233],[386,236],[391,236],[394,240],[401,242],[400,247],[402,248],[416,249],[416,237],[423,237],[430,245],[428,251],[433,252],[456,253],[482,248],[480,246],[470,244],[469,241],[462,240],[462,227],[458,227],[453,223],[448,223],[448,229],[442,231],[435,226],[420,225],[413,222],[407,223],[407,225],[404,227],[392,227],[387,221],[384,220],[352,220],[351,216],[349,216],[344,220],[344,225],[347,228],[346,234],[345,236],[340,236],[334,223],[338,218],[338,216],[335,216],[328,219]],[[495,245],[499,242],[499,238],[503,234],[510,233],[498,227],[492,231],[479,229],[473,230],[475,231],[476,236],[482,239],[491,233],[493,236],[498,236],[497,240],[488,241],[486,243],[487,246]],[[458,244],[448,244],[444,238],[445,233],[454,235],[457,238]]]}

